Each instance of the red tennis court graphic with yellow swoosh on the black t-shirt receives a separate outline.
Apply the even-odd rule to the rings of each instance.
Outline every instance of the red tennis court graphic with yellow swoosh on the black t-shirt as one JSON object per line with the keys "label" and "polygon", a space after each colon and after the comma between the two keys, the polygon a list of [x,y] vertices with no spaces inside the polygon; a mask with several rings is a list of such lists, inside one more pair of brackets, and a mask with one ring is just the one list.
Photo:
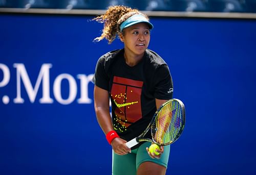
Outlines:
{"label": "red tennis court graphic with yellow swoosh on the black t-shirt", "polygon": [[123,132],[133,122],[142,118],[140,99],[142,85],[141,81],[114,77],[111,98],[117,107],[113,122],[115,130]]}

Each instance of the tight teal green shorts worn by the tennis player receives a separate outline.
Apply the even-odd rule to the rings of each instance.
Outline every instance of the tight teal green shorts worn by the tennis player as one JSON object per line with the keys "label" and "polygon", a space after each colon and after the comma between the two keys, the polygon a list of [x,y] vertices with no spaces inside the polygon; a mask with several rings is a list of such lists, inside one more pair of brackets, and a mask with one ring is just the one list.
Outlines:
{"label": "tight teal green shorts worn by the tennis player", "polygon": [[151,142],[145,142],[138,148],[133,149],[132,153],[127,155],[112,154],[112,174],[113,175],[136,175],[138,167],[143,162],[154,162],[167,168],[170,145],[164,146],[164,152],[160,159],[152,159],[146,151],[146,147],[150,147]]}

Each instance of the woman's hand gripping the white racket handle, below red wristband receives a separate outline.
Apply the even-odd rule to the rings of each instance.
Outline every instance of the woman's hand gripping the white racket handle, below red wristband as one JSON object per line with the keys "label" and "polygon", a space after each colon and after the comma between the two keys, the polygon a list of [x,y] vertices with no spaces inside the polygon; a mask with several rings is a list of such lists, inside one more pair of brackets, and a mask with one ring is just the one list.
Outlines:
{"label": "woman's hand gripping the white racket handle, below red wristband", "polygon": [[125,143],[126,141],[119,137],[112,140],[111,145],[117,155],[126,155],[131,153],[131,148],[127,147]]}

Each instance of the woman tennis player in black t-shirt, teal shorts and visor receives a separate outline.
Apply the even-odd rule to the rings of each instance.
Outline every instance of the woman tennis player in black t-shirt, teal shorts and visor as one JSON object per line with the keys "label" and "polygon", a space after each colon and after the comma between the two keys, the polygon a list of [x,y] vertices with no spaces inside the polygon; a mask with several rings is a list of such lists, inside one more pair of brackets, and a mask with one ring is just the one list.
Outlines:
{"label": "woman tennis player in black t-shirt, teal shorts and visor", "polygon": [[156,110],[173,96],[167,64],[147,48],[153,24],[137,9],[124,6],[112,6],[94,20],[104,23],[96,41],[105,38],[110,44],[118,36],[124,44],[99,58],[93,78],[97,120],[113,148],[112,174],[165,174],[169,145],[161,146],[159,155],[148,151],[150,142],[132,148],[125,145],[145,130]]}

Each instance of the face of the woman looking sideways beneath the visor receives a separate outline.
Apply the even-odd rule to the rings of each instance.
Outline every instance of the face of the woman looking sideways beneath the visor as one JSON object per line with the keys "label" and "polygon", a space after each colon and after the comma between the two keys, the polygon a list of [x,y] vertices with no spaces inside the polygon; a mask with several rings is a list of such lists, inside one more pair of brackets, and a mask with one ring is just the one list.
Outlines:
{"label": "face of the woman looking sideways beneath the visor", "polygon": [[140,22],[123,29],[123,34],[120,34],[120,40],[124,42],[125,52],[133,55],[143,55],[150,43],[148,24]]}

